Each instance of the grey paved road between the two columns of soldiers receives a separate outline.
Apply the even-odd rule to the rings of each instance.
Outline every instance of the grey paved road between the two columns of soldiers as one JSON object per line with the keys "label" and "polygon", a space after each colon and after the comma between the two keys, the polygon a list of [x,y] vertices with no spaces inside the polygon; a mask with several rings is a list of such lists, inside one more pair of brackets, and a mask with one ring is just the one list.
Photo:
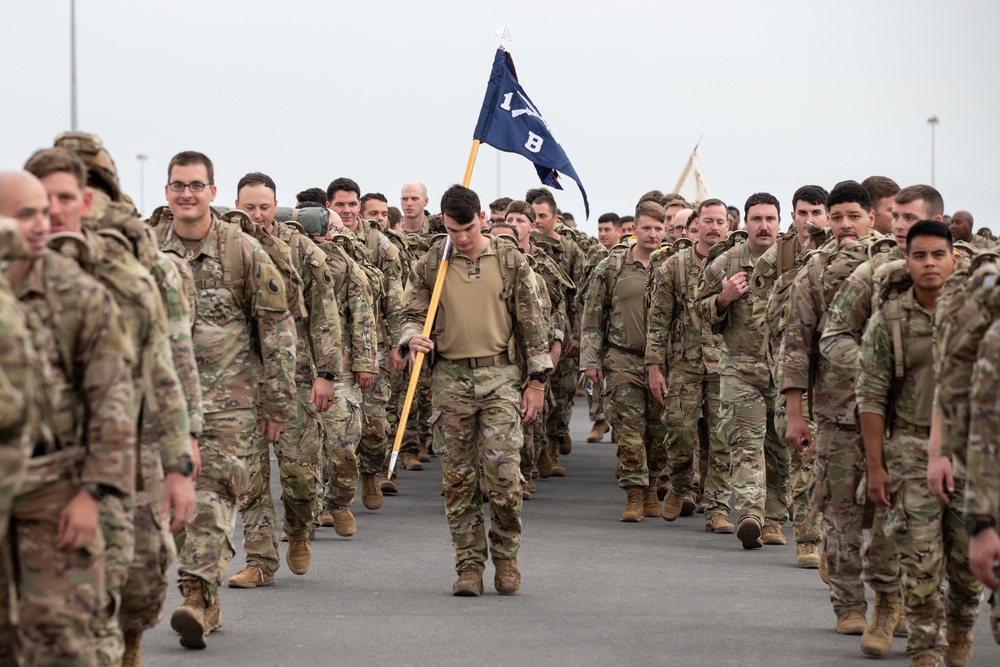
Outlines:
{"label": "grey paved road between the two columns of soldiers", "polygon": [[[284,562],[277,585],[222,589],[225,627],[204,651],[181,648],[169,616],[144,641],[160,665],[808,665],[874,664],[857,637],[833,631],[816,570],[789,545],[744,551],[704,532],[694,515],[667,524],[618,521],[625,493],[614,446],[586,444],[577,399],[569,476],[539,480],[525,503],[520,594],[451,595],[452,551],[435,459],[400,473],[400,494],[377,512],[355,503],[358,533],[320,529],[304,576]],[[276,480],[274,480],[276,483]],[[240,545],[239,528],[236,543]],[[282,547],[284,550],[284,545]],[[244,564],[242,548],[230,574]],[[995,667],[984,605],[973,665]],[[905,640],[880,665],[907,665]]]}

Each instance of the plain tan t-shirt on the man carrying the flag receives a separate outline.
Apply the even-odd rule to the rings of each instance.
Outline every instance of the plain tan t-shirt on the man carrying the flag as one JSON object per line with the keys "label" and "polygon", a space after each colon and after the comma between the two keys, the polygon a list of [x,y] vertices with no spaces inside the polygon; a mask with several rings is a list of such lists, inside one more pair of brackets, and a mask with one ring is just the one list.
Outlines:
{"label": "plain tan t-shirt on the man carrying the flag", "polygon": [[434,323],[435,349],[445,359],[507,352],[513,322],[503,299],[500,261],[492,247],[473,262],[452,253]]}

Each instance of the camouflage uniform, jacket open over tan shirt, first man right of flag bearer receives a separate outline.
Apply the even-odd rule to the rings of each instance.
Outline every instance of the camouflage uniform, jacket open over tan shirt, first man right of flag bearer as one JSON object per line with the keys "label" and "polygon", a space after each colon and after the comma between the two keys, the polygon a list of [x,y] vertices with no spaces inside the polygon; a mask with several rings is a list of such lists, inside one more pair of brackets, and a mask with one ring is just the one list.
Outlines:
{"label": "camouflage uniform, jacket open over tan shirt, first man right of flag bearer", "polygon": [[597,265],[580,318],[580,368],[604,373],[606,414],[618,431],[618,486],[623,489],[655,486],[666,467],[662,405],[649,392],[643,361],[648,272],[633,248],[616,250]]}

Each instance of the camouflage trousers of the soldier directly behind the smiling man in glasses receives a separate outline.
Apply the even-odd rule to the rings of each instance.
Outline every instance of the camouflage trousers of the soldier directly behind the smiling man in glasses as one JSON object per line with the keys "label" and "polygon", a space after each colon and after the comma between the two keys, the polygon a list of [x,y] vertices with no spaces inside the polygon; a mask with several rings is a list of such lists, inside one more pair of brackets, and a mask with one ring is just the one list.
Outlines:
{"label": "camouflage trousers of the soldier directly behind the smiling man in glasses", "polygon": [[[285,432],[274,444],[281,480],[284,528],[289,538],[306,537],[312,530],[316,487],[319,485],[322,430],[315,406],[309,403],[312,387],[297,387],[298,404]],[[267,436],[254,434],[254,451],[247,466],[249,483],[240,496],[243,550],[247,564],[274,574],[281,563],[278,553],[277,516],[271,495],[271,447]]]}

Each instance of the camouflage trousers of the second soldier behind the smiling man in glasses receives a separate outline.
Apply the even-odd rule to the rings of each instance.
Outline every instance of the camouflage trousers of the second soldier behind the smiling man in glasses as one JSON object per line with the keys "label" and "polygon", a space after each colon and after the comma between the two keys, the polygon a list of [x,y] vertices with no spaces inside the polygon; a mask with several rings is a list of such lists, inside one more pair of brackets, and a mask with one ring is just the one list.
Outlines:
{"label": "camouflage trousers of the second soldier behind the smiling man in glasses", "polygon": [[314,522],[323,510],[351,506],[358,486],[358,443],[361,442],[361,390],[354,379],[337,380],[333,405],[323,419],[323,490],[318,494]]}

